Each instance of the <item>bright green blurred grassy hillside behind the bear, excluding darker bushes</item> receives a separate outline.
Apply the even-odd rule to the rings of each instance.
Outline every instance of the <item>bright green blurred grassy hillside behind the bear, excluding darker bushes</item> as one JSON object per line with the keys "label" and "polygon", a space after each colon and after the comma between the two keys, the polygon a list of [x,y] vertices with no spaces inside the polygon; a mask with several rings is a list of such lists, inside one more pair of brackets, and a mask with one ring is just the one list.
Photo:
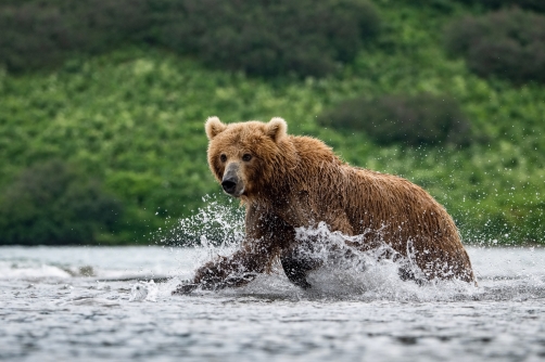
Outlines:
{"label": "bright green blurred grassy hillside behind the bear, excluding darker bushes", "polygon": [[[321,79],[249,78],[142,47],[71,59],[53,72],[3,72],[0,188],[30,165],[66,160],[102,180],[125,205],[115,231],[98,241],[149,243],[159,228],[191,215],[204,195],[219,190],[206,166],[206,117],[281,116],[291,133],[322,139],[353,165],[426,188],[467,242],[545,243],[545,87],[481,79],[445,55],[443,26],[469,8],[376,3],[386,24],[378,44]],[[421,92],[460,102],[476,134],[472,145],[378,146],[363,132],[316,122],[346,99]]]}

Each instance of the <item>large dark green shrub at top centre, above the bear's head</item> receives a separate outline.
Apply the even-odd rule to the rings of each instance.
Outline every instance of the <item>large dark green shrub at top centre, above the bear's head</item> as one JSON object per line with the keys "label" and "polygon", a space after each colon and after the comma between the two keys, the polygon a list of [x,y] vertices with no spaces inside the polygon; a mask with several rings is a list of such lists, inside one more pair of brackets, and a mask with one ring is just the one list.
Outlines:
{"label": "large dark green shrub at top centre, above the bear's head", "polygon": [[322,76],[352,61],[379,26],[370,4],[346,0],[186,0],[178,11],[162,34],[166,46],[261,76]]}

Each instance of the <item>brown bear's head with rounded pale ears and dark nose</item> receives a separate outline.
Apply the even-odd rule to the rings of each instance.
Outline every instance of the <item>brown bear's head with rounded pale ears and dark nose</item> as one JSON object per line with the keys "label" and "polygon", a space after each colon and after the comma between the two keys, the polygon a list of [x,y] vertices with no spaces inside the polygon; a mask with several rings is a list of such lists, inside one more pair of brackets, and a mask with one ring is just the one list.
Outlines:
{"label": "brown bear's head with rounded pale ears and dark nose", "polygon": [[246,121],[225,125],[217,117],[206,120],[208,166],[224,191],[252,198],[270,189],[278,168],[284,165],[288,126],[282,118],[269,122]]}

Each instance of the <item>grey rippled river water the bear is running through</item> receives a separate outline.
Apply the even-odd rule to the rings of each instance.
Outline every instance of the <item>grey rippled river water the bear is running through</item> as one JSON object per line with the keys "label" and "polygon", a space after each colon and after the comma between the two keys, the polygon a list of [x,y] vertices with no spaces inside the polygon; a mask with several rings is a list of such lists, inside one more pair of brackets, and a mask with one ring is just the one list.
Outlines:
{"label": "grey rippled river water the bear is running through", "polygon": [[[545,360],[543,248],[468,248],[478,287],[418,286],[382,264],[359,279],[328,271],[309,292],[278,269],[170,295],[216,251],[0,247],[0,360]],[[139,280],[154,281],[139,284],[145,296]]]}

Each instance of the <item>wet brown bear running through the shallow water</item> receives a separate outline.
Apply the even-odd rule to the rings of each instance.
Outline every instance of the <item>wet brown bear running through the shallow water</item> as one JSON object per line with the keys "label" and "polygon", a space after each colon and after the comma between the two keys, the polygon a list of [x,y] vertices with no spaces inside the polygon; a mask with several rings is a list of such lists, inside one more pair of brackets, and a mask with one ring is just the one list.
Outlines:
{"label": "wet brown bear running through the shallow water", "polygon": [[206,120],[208,165],[224,191],[245,205],[245,238],[230,257],[218,257],[174,292],[240,286],[270,271],[280,259],[288,279],[306,288],[306,275],[320,266],[299,228],[325,222],[332,232],[365,235],[346,243],[366,251],[389,245],[419,269],[402,279],[474,282],[471,262],[446,210],[426,191],[400,177],[352,167],[324,142],[287,134],[282,118],[268,124],[225,125]]}

